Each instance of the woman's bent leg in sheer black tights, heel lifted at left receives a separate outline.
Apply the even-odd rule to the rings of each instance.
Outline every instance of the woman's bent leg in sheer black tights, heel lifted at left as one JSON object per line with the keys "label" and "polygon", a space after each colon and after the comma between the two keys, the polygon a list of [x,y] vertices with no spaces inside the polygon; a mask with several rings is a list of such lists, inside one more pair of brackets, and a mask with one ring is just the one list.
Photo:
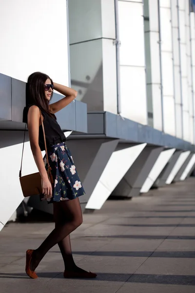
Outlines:
{"label": "woman's bent leg in sheer black tights, heel lifted at left", "polygon": [[60,203],[55,204],[61,205],[61,208],[66,215],[66,222],[59,224],[59,226],[47,236],[39,248],[33,251],[30,265],[32,271],[35,271],[47,251],[82,224],[82,211],[78,198],[69,201],[61,201]]}

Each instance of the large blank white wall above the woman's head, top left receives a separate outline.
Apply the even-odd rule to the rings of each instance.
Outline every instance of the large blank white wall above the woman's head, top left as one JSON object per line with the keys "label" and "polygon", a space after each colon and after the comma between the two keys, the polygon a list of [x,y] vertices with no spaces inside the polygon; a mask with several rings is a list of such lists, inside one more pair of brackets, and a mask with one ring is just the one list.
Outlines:
{"label": "large blank white wall above the woman's head, top left", "polygon": [[26,82],[35,71],[68,85],[66,1],[0,1],[0,73]]}

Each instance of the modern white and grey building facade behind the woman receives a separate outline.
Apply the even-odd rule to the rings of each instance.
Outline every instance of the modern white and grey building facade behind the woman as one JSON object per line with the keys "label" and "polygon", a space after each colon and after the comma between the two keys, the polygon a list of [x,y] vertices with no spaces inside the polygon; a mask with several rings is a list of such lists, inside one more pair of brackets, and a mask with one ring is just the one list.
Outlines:
{"label": "modern white and grey building facade behind the woman", "polygon": [[[34,71],[78,91],[57,119],[86,191],[83,210],[192,173],[194,7],[188,0],[0,3],[0,230],[21,203],[52,213],[36,196],[23,201],[19,181],[25,82]],[[27,135],[22,175],[36,171]]]}

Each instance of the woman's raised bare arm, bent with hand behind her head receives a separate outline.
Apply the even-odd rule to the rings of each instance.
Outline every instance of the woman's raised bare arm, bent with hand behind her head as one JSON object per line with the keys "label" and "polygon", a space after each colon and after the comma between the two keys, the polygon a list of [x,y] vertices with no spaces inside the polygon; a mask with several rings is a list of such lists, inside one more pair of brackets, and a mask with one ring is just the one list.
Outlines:
{"label": "woman's raised bare arm, bent with hand behind her head", "polygon": [[73,88],[56,83],[54,83],[54,89],[65,96],[58,102],[53,103],[49,106],[50,111],[55,114],[56,112],[70,104],[77,97],[77,91]]}

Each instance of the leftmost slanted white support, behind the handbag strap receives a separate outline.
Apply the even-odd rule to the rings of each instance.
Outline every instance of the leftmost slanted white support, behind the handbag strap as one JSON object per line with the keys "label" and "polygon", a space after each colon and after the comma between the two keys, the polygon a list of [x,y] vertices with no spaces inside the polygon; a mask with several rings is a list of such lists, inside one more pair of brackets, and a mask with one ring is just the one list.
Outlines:
{"label": "leftmost slanted white support, behind the handbag strap", "polygon": [[[23,131],[0,131],[0,222],[2,225],[7,223],[24,199],[19,180],[23,135]],[[11,177],[8,176],[10,172]],[[22,176],[34,172],[38,172],[38,169],[30,143],[27,141],[24,143]]]}

